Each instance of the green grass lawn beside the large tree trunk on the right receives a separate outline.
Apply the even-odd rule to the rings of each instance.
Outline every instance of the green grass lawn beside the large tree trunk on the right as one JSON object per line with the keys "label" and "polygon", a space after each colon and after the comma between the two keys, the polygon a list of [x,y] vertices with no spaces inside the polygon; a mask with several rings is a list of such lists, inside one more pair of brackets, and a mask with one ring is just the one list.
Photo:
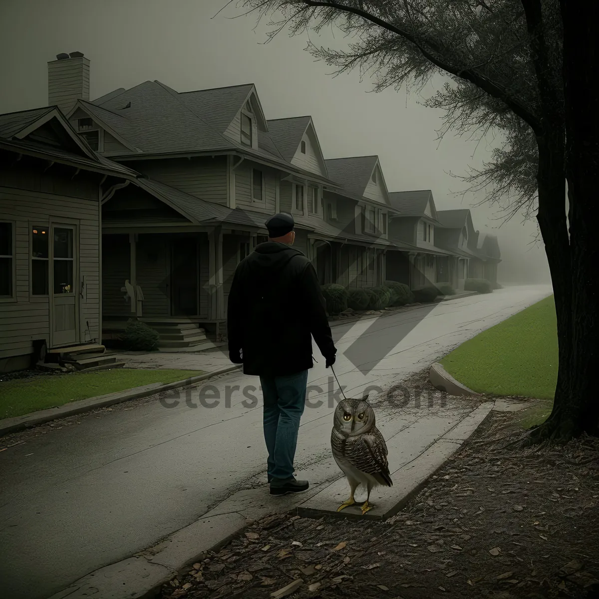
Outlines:
{"label": "green grass lawn beside the large tree trunk on the right", "polygon": [[441,364],[473,391],[550,400],[550,412],[558,375],[553,296],[462,343]]}

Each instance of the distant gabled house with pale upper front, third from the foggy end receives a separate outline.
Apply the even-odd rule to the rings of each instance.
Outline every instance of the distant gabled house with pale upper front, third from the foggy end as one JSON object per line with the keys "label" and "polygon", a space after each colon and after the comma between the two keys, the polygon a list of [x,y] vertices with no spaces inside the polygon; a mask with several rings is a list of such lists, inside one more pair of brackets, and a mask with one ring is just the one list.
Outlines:
{"label": "distant gabled house with pale upper front, third from the foggy end", "polygon": [[388,253],[388,272],[411,289],[449,283],[452,252],[435,243],[435,229],[439,222],[431,190],[392,192],[389,195],[391,205],[397,211],[390,223],[390,240],[407,244],[410,251]]}

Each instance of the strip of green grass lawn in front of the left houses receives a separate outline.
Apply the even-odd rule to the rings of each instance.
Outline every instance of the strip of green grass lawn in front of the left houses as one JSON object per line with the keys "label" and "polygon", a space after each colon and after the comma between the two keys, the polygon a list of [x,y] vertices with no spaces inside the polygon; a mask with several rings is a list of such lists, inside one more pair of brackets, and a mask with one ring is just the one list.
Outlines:
{"label": "strip of green grass lawn in front of the left houses", "polygon": [[142,370],[114,368],[91,373],[52,374],[34,379],[0,382],[0,419],[37,410],[143,387],[152,383],[174,383],[204,374],[201,370]]}

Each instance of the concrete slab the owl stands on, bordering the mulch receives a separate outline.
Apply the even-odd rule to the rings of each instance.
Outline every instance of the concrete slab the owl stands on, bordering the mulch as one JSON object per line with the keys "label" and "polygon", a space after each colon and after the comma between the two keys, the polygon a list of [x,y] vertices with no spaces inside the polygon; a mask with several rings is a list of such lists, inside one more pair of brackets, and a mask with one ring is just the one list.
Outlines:
{"label": "concrete slab the owl stands on, bordering the mulch", "polygon": [[[361,496],[356,493],[356,504],[337,512],[337,507],[349,497],[349,486],[345,477],[326,486],[322,491],[311,497],[297,508],[299,516],[306,518],[321,518],[322,516],[337,516],[338,518],[367,518],[371,520],[386,520],[399,512],[406,503],[414,497],[426,484],[426,481],[450,456],[453,455],[464,442],[473,434],[478,426],[489,415],[493,407],[492,402],[482,404],[473,412],[460,420],[447,431],[441,438],[427,447],[415,459],[412,459],[400,468],[392,471],[391,479],[394,485],[391,488],[380,487],[371,493],[371,502],[375,507],[362,516],[360,504],[365,500],[362,490]],[[389,464],[397,461],[404,453],[406,438],[397,435],[397,438],[387,441],[389,450]],[[358,498],[361,499],[358,501]]]}

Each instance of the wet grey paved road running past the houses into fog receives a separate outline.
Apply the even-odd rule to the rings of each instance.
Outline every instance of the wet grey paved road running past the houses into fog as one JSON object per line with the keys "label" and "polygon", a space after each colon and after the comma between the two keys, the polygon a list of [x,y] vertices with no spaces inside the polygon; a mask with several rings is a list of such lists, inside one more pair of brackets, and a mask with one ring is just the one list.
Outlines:
{"label": "wet grey paved road running past the houses into fog", "polygon": [[[386,389],[550,293],[547,286],[506,288],[335,326],[335,371],[347,397],[371,384]],[[322,405],[305,410],[297,470],[319,483],[338,476],[331,467],[328,394],[337,385],[317,350],[314,356],[319,363],[309,384],[322,393],[310,398]],[[226,386],[233,388],[229,401]],[[206,392],[208,403],[216,390],[220,397],[211,409],[199,404],[197,391],[195,408],[184,398],[170,409],[158,401],[123,404],[45,435],[29,433],[26,443],[0,452],[0,597],[46,599],[152,546],[232,493],[264,484],[261,403],[246,400],[248,386],[258,388],[258,379],[229,374]],[[385,416],[381,425],[386,437],[406,431],[408,459],[418,450],[413,439],[426,444],[463,416],[423,409]]]}

